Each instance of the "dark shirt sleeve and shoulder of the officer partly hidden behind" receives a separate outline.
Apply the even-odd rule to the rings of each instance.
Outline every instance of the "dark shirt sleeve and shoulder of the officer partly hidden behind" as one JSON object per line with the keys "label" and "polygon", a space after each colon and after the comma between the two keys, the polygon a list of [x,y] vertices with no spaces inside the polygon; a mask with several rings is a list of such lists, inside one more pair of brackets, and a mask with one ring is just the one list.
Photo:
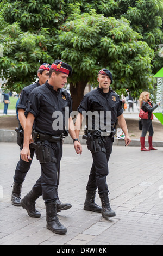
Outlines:
{"label": "dark shirt sleeve and shoulder of the officer partly hidden behind", "polygon": [[20,108],[24,109],[24,111],[26,110],[27,98],[28,98],[29,94],[32,92],[32,90],[34,88],[36,88],[37,86],[40,86],[39,81],[37,81],[34,84],[30,84],[30,86],[26,86],[23,88],[21,95],[20,95],[19,103],[17,105],[17,111]]}

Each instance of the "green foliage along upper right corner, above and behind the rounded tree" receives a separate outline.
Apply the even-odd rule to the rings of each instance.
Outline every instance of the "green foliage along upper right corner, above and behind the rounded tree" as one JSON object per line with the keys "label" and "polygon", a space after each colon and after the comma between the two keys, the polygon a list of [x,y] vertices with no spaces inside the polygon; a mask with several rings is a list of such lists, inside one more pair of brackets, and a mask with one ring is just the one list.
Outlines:
{"label": "green foliage along upper right corner, above and behind the rounded tree", "polygon": [[142,41],[147,42],[155,56],[152,60],[152,72],[156,74],[163,66],[163,58],[160,58],[160,44],[163,44],[163,1],[162,0],[81,0],[80,9],[90,12],[96,9],[97,14],[105,17],[124,17],[130,21],[134,31],[141,33]]}

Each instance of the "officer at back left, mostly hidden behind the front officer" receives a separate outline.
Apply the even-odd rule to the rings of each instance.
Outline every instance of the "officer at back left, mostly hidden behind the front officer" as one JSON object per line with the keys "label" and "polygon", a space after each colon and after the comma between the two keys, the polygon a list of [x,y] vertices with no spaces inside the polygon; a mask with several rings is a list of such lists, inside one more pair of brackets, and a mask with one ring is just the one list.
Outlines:
{"label": "officer at back left, mostly hidden behind the front officer", "polygon": [[[51,65],[47,63],[43,63],[40,68],[37,70],[37,77],[39,80],[34,83],[30,84],[30,86],[26,86],[23,88],[21,95],[20,95],[20,101],[18,103],[17,109],[18,109],[18,119],[20,120],[21,127],[19,131],[22,131],[23,136],[23,129],[26,123],[26,117],[24,115],[24,112],[26,110],[26,102],[29,94],[32,92],[34,88],[37,88],[41,86],[42,84],[45,84],[45,82],[48,80],[49,76],[49,69],[51,68]],[[30,135],[30,142],[32,142],[32,135]],[[23,143],[23,137],[22,142]],[[22,150],[23,144],[20,144],[20,149]],[[30,147],[30,157],[33,159],[35,153],[35,149]],[[15,206],[21,206],[21,191],[22,191],[22,185],[23,181],[26,178],[26,174],[28,170],[30,169],[30,165],[32,164],[32,160],[29,162],[23,161],[20,156],[20,160],[17,163],[16,169],[15,169],[15,175],[14,175],[14,185],[13,190],[11,194],[11,201],[12,204]],[[56,188],[57,189],[57,188]],[[57,209],[58,212],[61,210],[70,209],[71,204],[70,203],[61,203],[59,198],[57,199]]]}

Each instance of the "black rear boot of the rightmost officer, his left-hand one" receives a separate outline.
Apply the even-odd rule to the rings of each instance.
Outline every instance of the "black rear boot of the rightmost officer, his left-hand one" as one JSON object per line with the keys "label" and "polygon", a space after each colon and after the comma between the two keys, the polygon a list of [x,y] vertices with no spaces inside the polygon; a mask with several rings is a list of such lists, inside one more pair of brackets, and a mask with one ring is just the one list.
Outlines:
{"label": "black rear boot of the rightmost officer, his left-hand one", "polygon": [[84,210],[86,211],[94,211],[101,212],[102,208],[95,203],[96,190],[86,192],[86,199],[84,202]]}

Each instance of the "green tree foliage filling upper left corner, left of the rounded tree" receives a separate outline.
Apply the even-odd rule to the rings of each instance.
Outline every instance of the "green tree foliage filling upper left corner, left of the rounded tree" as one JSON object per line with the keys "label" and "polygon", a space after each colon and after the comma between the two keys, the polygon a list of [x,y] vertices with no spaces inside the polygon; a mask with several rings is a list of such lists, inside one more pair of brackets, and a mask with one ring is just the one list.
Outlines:
{"label": "green tree foliage filling upper left corner, left of the rounded tree", "polygon": [[40,64],[54,61],[52,45],[65,17],[63,7],[63,0],[1,1],[0,70],[5,88],[20,93],[35,81]]}

